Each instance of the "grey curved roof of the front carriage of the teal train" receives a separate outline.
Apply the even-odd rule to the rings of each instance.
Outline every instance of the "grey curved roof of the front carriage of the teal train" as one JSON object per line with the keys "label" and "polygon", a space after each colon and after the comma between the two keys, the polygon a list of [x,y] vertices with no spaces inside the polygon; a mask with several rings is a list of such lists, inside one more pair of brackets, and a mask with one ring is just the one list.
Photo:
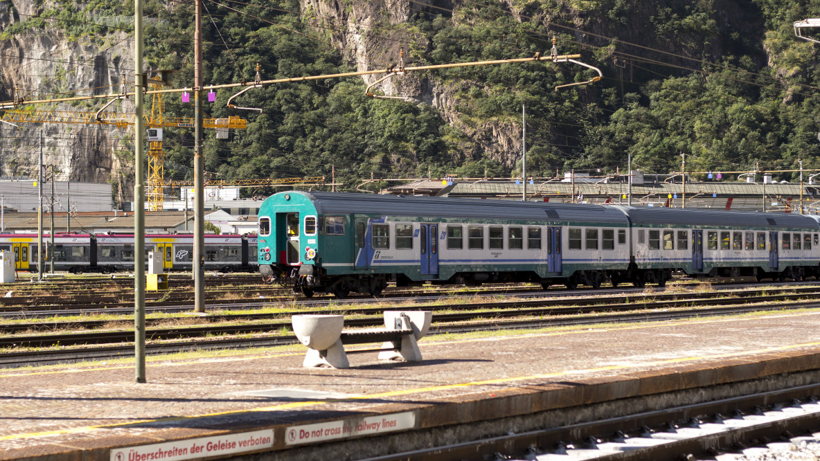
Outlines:
{"label": "grey curved roof of the front carriage of the teal train", "polygon": [[628,223],[621,210],[603,205],[303,191],[280,192],[268,200],[278,203],[284,194],[303,195],[313,203],[318,213],[325,215],[361,213],[407,217],[604,222],[624,226]]}

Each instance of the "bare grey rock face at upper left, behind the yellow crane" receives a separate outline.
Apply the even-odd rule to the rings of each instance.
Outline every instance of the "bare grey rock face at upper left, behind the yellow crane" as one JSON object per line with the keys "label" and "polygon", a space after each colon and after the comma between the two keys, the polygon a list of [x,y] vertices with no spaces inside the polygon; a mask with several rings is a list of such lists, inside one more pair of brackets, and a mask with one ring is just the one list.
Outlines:
{"label": "bare grey rock face at upper left, behind the yellow crane", "polygon": [[[0,31],[13,29],[43,12],[42,2],[0,2]],[[65,98],[121,91],[122,74],[133,81],[133,41],[117,32],[101,38],[71,39],[62,30],[22,28],[0,40],[0,100]],[[28,29],[28,30],[26,30]],[[32,30],[34,29],[34,30]],[[131,84],[129,84],[131,86]],[[71,93],[68,93],[71,92]],[[89,102],[33,104],[31,120],[53,120],[57,112],[96,112]],[[96,104],[100,107],[100,104]],[[24,108],[24,107],[20,107]],[[114,103],[111,112],[134,112],[131,102]],[[57,118],[61,118],[57,115]],[[112,182],[115,202],[133,196],[133,134],[130,130],[82,123],[0,124],[0,176],[36,177],[43,134],[43,164],[57,180]],[[48,167],[47,167],[48,168]],[[48,168],[50,171],[50,168]],[[48,177],[48,176],[47,176]]]}

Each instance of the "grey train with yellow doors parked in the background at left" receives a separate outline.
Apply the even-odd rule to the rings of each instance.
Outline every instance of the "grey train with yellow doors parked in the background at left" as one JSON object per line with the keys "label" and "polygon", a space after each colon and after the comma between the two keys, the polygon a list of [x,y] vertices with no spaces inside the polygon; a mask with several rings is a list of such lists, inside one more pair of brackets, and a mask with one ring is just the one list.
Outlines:
{"label": "grey train with yellow doors parked in the background at left", "polygon": [[[48,249],[50,235],[43,235]],[[37,271],[36,234],[0,234],[0,251],[14,253],[21,271]],[[222,272],[256,272],[256,235],[205,235],[205,269]],[[162,253],[166,271],[190,271],[194,264],[194,236],[190,234],[145,235],[144,262],[148,252]],[[74,273],[134,271],[133,234],[55,234],[54,268]],[[50,267],[46,253],[45,265]]]}

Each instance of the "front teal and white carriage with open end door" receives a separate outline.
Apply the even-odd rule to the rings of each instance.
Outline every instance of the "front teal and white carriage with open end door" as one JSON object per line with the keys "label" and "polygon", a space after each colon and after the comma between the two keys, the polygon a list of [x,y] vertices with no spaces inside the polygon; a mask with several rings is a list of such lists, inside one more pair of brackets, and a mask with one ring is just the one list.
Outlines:
{"label": "front teal and white carriage with open end door", "polygon": [[259,210],[259,264],[306,295],[388,281],[598,287],[628,271],[628,228],[607,206],[289,191]]}

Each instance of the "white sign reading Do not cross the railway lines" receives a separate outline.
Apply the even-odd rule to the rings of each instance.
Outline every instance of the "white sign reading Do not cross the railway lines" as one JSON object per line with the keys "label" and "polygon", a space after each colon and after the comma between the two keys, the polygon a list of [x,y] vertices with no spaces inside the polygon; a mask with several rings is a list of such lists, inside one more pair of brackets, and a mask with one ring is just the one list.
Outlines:
{"label": "white sign reading Do not cross the railway lines", "polygon": [[285,444],[308,444],[323,440],[402,431],[413,427],[416,427],[416,414],[412,412],[318,422],[317,424],[288,427],[285,430]]}

